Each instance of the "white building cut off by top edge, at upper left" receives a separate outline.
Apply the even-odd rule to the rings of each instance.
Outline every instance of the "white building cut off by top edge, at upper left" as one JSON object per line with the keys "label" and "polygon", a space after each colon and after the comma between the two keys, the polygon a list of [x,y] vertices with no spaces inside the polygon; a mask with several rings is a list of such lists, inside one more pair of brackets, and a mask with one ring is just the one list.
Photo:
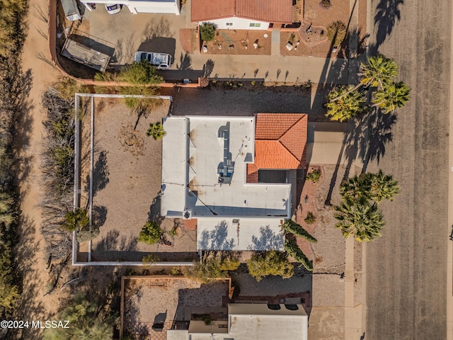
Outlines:
{"label": "white building cut off by top edge, at upper left", "polygon": [[[79,0],[88,8],[88,11],[93,10],[92,5],[103,6],[108,5],[124,5],[129,8],[130,13],[164,13],[176,14],[179,16],[180,0]],[[105,8],[103,8],[105,9]]]}

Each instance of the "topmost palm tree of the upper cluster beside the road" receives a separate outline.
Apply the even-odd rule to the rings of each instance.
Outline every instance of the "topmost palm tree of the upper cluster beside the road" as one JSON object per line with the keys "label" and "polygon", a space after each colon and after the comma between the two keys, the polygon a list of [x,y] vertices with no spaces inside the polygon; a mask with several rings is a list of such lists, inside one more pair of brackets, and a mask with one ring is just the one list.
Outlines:
{"label": "topmost palm tree of the upper cluster beside the road", "polygon": [[393,81],[398,75],[398,65],[393,59],[377,55],[369,57],[367,64],[360,64],[360,83],[364,86],[382,89],[384,84]]}

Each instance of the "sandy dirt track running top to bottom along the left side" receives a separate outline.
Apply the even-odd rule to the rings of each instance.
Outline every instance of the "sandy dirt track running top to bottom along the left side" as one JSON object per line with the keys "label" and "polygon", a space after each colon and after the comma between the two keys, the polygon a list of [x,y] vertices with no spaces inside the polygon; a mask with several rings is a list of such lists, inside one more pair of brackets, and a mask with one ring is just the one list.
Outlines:
{"label": "sandy dirt track running top to bottom along the left side", "polygon": [[[20,243],[17,249],[18,270],[23,275],[23,293],[18,317],[21,319],[50,319],[59,306],[59,290],[51,295],[48,291],[49,276],[45,271],[47,259],[43,252],[45,246],[40,234],[41,211],[38,208],[42,191],[40,188],[39,158],[42,143],[41,95],[47,87],[59,77],[59,72],[46,62],[38,60],[37,55],[50,60],[48,42],[42,36],[47,33],[47,23],[42,21],[39,13],[47,15],[46,0],[30,1],[28,12],[28,37],[23,52],[23,70],[30,70],[33,86],[28,98],[27,136],[28,142],[19,152],[23,162],[23,178],[21,179],[21,210],[22,220],[19,227]],[[25,137],[25,136],[24,136]],[[40,334],[40,329],[24,329],[23,339],[33,339]]]}

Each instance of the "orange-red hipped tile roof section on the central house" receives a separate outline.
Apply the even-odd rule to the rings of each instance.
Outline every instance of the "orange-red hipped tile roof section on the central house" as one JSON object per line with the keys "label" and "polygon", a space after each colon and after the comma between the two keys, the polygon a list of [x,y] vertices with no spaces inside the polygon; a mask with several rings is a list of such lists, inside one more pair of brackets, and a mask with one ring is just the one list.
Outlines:
{"label": "orange-red hipped tile roof section on the central house", "polygon": [[258,113],[255,166],[258,169],[304,169],[307,122],[304,113]]}

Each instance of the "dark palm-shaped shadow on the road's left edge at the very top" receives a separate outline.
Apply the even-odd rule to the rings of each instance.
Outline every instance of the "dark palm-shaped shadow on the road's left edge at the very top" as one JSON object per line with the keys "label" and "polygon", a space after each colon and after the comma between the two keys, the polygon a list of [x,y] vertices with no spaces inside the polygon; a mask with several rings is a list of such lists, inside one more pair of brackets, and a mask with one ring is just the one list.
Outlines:
{"label": "dark palm-shaped shadow on the road's left edge at the very top", "polygon": [[381,0],[377,5],[377,12],[374,16],[374,27],[377,26],[376,45],[372,47],[372,54],[376,54],[379,46],[391,35],[396,21],[401,19],[400,6],[404,0]]}

